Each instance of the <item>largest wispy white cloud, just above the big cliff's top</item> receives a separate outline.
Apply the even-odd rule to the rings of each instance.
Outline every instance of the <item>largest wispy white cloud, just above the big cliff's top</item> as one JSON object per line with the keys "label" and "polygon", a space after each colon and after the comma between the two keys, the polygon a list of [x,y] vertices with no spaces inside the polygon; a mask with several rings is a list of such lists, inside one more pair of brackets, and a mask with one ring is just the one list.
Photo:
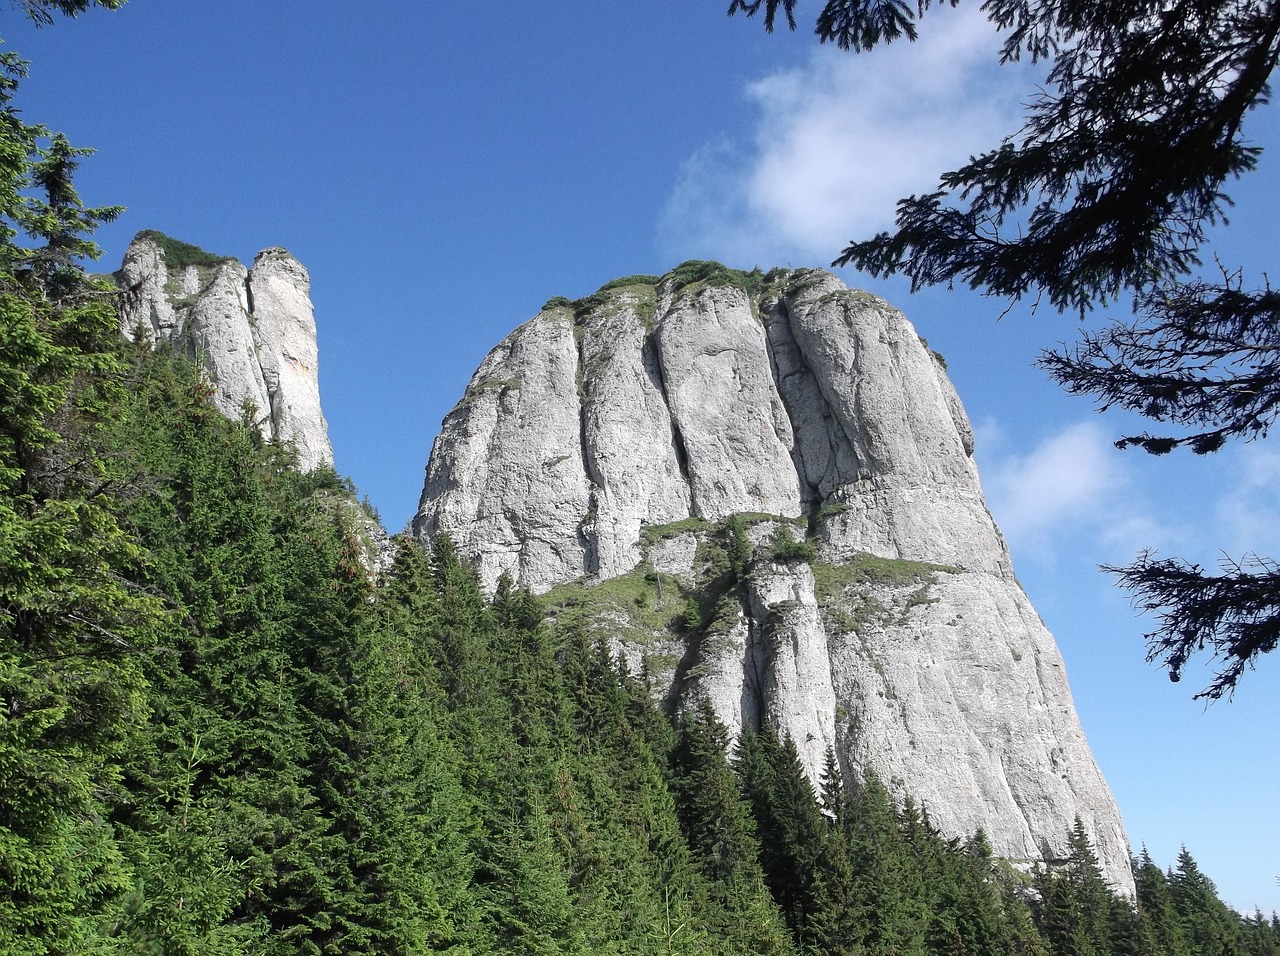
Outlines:
{"label": "largest wispy white cloud, just above the big cliff's top", "polygon": [[672,257],[826,262],[892,223],[899,198],[1019,123],[1016,68],[975,8],[940,9],[922,40],[854,55],[819,47],[751,83],[750,142],[703,146],[660,223]]}

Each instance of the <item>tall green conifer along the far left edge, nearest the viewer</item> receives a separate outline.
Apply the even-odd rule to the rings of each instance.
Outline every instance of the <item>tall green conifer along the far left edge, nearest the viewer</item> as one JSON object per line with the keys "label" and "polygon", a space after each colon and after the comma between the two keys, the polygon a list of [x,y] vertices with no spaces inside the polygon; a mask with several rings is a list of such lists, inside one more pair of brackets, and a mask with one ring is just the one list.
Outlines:
{"label": "tall green conifer along the far left edge, nearest the viewer", "polygon": [[164,610],[104,497],[115,311],[77,257],[118,210],[84,207],[82,151],[22,122],[24,76],[0,52],[0,950],[44,953],[92,946],[132,882],[101,796]]}

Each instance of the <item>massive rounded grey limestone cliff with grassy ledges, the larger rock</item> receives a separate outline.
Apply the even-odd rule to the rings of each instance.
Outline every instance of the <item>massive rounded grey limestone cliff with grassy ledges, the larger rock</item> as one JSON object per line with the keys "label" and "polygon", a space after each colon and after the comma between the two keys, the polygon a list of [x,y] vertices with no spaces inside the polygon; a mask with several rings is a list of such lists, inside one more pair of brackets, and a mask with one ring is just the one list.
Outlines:
{"label": "massive rounded grey limestone cliff with grassy ledges, the larger rock", "polygon": [[604,630],[672,706],[832,747],[1015,860],[1079,817],[1132,892],[1052,636],[941,360],[820,271],[686,264],[549,302],[445,417],[416,532]]}

